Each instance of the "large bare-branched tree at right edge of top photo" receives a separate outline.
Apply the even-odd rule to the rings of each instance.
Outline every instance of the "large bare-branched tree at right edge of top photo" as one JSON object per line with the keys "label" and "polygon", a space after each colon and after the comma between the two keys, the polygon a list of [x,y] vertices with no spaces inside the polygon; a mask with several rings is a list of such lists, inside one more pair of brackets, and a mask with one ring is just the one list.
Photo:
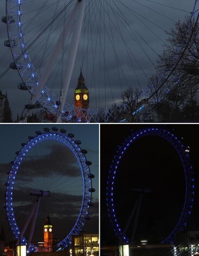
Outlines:
{"label": "large bare-branched tree at right edge of top photo", "polygon": [[[162,108],[162,102],[170,101],[174,110],[171,113],[171,120],[182,121],[182,118],[185,118],[186,121],[188,116],[189,120],[191,116],[194,117],[195,107],[198,105],[199,25],[187,17],[183,22],[178,21],[175,28],[171,28],[167,34],[166,47],[158,61],[157,73],[165,78],[173,72],[161,89],[157,89],[160,78],[158,80],[156,77],[151,78],[148,86],[157,90],[155,97],[158,109]],[[184,109],[186,117],[181,115]]]}

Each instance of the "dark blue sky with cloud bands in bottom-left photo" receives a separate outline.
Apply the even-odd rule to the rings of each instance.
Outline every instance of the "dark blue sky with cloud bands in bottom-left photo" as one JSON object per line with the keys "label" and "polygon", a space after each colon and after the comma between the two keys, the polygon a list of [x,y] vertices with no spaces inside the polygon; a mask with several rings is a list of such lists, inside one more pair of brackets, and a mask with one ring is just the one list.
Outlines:
{"label": "dark blue sky with cloud bands in bottom-left photo", "polygon": [[[44,127],[52,128],[53,125],[18,124],[1,125],[1,221],[5,236],[12,239],[9,231],[8,221],[5,220],[4,194],[7,182],[7,172],[10,170],[10,161],[14,160],[15,152],[21,148],[21,143],[28,141],[29,135],[35,135],[36,130],[43,130]],[[74,133],[74,139],[81,140],[81,148],[87,149],[87,160],[92,161],[91,173],[95,175],[92,180],[94,207],[89,215],[91,220],[87,221],[84,228],[87,233],[98,233],[99,229],[99,137],[98,125],[57,125],[65,128],[67,133]],[[31,202],[35,201],[34,196],[29,195],[33,190],[51,191],[50,197],[42,197],[40,210],[33,241],[43,240],[43,224],[49,214],[54,229],[54,238],[63,239],[74,226],[80,211],[82,195],[81,172],[76,159],[67,147],[60,146],[60,143],[39,143],[33,150],[29,151],[22,161],[17,173],[14,186],[14,214],[17,224],[22,229],[24,220],[30,210]]]}

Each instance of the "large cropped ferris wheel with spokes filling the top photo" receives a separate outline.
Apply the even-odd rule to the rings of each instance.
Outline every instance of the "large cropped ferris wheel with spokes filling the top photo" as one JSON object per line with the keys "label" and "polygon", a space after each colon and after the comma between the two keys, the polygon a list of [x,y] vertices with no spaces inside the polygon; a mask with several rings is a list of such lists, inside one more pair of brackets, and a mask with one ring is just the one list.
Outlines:
{"label": "large cropped ferris wheel with spokes filling the top photo", "polygon": [[[165,45],[165,31],[178,18],[198,13],[198,0],[157,1],[7,0],[7,23],[21,90],[31,93],[27,111],[43,107],[57,122],[114,121],[121,93],[146,88]],[[89,107],[74,103],[80,67]],[[84,101],[84,99],[82,99]]]}

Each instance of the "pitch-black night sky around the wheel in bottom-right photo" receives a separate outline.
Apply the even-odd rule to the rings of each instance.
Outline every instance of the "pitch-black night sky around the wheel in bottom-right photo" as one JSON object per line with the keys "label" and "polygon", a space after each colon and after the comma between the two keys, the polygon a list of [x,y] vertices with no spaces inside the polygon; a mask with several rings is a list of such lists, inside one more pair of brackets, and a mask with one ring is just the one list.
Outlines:
{"label": "pitch-black night sky around the wheel in bottom-right photo", "polygon": [[[101,244],[117,244],[107,215],[105,190],[107,173],[117,147],[131,134],[131,130],[150,125],[101,125]],[[195,204],[187,224],[187,230],[198,230],[198,156],[197,125],[161,125],[171,130],[183,144],[190,146],[190,157],[195,171]],[[131,189],[150,189],[144,194],[137,226],[136,242],[147,239],[150,243],[161,242],[177,224],[184,204],[185,179],[181,160],[168,141],[157,136],[139,139],[125,152],[118,167],[114,186],[116,216],[124,229],[138,195]],[[131,224],[132,225],[132,224]],[[130,237],[132,226],[127,236]]]}

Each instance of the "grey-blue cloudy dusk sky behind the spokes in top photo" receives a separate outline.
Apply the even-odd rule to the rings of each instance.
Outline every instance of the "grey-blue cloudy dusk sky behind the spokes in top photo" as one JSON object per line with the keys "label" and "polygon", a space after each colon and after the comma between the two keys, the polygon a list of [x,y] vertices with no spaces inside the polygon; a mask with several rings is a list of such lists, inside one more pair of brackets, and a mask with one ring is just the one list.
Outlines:
{"label": "grey-blue cloudy dusk sky behind the spokes in top photo", "polygon": [[[0,3],[0,16],[5,16],[5,2],[1,1]],[[27,46],[36,38],[38,31],[41,31],[47,24],[48,19],[53,16],[56,3],[59,4],[58,9],[63,7],[63,1],[49,0],[47,2],[48,8],[37,15],[37,18],[29,24],[28,31],[25,28],[29,19],[34,16],[31,11],[36,12],[43,3],[38,0],[34,1],[34,5],[29,1],[27,5],[22,5],[22,28]],[[69,1],[64,2],[68,3]],[[178,19],[184,20],[185,16],[193,10],[194,3],[195,0],[167,0],[166,4],[164,0],[87,0],[86,18],[82,26],[81,42],[69,86],[67,102],[73,103],[74,89],[78,83],[80,67],[82,67],[86,86],[90,93],[90,109],[111,107],[113,102],[120,103],[122,92],[130,86],[144,90],[147,80],[156,72],[155,66],[158,55],[163,52],[167,38],[165,30],[174,27]],[[59,22],[62,22],[63,19],[64,17],[60,16]],[[42,51],[49,30],[45,31],[40,40],[34,44],[33,49],[29,50],[30,58],[34,67],[37,67],[39,74],[42,74],[48,63],[46,57],[55,47],[60,24],[55,23],[57,28],[55,30],[52,28],[48,49],[41,68],[40,60],[43,56]],[[6,24],[3,22],[0,23],[0,31],[0,74],[2,74],[13,60],[10,49],[4,46],[4,41],[8,39],[8,35]],[[66,45],[67,47],[68,45]],[[67,54],[65,55],[63,61],[66,61]],[[60,53],[60,59],[61,56]],[[54,73],[48,82],[48,87],[53,90],[55,95],[59,95],[62,84],[61,68],[58,70],[60,59],[57,61],[53,69]],[[65,73],[65,64],[64,62],[63,73]],[[0,80],[0,89],[3,93],[8,92],[14,119],[17,113],[22,113],[24,105],[28,104],[30,100],[30,93],[19,90],[17,88],[18,83],[21,83],[21,78],[16,70],[9,70]]]}

